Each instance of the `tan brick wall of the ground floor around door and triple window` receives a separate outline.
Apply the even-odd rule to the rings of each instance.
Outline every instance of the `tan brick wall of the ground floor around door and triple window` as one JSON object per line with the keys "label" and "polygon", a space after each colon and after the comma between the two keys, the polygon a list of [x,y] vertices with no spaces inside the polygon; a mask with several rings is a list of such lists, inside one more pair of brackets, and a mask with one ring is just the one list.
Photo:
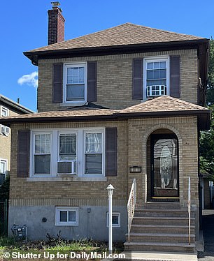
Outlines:
{"label": "tan brick wall of the ground floor around door and triple window", "polygon": [[[17,130],[24,128],[86,128],[117,127],[117,177],[107,181],[29,181],[17,178]],[[107,121],[65,124],[16,124],[12,126],[11,205],[106,205],[106,187],[115,186],[114,204],[125,205],[134,177],[137,178],[138,204],[147,198],[146,177],[147,142],[156,130],[164,133],[170,130],[179,142],[180,205],[187,203],[187,178],[191,177],[192,204],[198,205],[198,155],[197,117],[168,117],[153,119],[130,119],[128,121]],[[162,131],[163,130],[163,131]],[[129,167],[142,166],[142,173],[131,174]]]}

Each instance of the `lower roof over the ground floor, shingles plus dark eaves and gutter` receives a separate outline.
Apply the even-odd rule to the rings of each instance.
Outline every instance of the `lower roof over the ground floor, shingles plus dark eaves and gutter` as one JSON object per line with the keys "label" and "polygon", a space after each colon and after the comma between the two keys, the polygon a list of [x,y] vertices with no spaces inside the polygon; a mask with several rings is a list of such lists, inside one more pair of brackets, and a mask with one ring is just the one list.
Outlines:
{"label": "lower roof over the ground floor, shingles plus dark eaves and gutter", "polygon": [[145,103],[127,107],[124,110],[83,107],[80,110],[40,112],[15,117],[3,117],[0,119],[0,124],[10,126],[10,124],[27,122],[112,121],[145,117],[188,116],[198,116],[200,128],[203,130],[209,129],[211,110],[170,96],[160,96],[147,100]]}

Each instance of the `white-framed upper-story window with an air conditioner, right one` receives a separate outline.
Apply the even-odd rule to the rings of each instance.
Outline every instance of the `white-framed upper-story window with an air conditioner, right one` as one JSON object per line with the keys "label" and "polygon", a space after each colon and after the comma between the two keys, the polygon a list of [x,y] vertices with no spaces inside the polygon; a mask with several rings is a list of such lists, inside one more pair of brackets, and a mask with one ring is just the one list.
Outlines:
{"label": "white-framed upper-story window with an air conditioner, right one", "polygon": [[169,95],[169,57],[144,59],[144,99]]}

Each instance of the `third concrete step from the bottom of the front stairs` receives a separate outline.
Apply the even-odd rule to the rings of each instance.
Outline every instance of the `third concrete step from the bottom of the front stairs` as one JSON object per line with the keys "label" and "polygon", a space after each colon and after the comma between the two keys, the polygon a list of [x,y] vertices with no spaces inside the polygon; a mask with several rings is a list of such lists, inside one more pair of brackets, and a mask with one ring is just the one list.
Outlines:
{"label": "third concrete step from the bottom of the front stairs", "polygon": [[[167,233],[188,234],[188,225],[131,225],[131,232],[136,233]],[[194,226],[191,226],[191,234],[194,234]]]}

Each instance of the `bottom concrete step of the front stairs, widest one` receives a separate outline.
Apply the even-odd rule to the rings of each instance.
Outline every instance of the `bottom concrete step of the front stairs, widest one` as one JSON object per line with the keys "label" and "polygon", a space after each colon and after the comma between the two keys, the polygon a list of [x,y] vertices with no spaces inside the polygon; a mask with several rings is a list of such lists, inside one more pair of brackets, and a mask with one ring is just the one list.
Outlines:
{"label": "bottom concrete step of the front stairs, widest one", "polygon": [[159,242],[125,242],[125,251],[159,251],[159,252],[180,252],[180,253],[193,253],[194,244],[183,243],[159,243]]}

